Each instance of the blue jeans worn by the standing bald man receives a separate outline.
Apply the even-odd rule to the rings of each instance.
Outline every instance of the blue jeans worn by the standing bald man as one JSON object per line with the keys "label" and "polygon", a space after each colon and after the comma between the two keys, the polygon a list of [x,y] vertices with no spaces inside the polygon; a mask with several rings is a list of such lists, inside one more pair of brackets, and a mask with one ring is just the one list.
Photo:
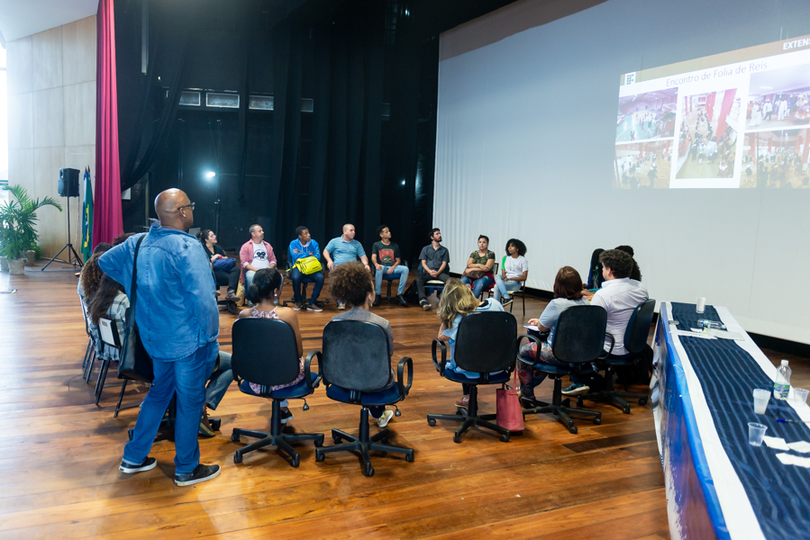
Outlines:
{"label": "blue jeans worn by the standing bald man", "polygon": [[140,465],[149,456],[168,403],[177,393],[175,474],[192,473],[200,464],[197,429],[205,404],[205,382],[214,369],[219,344],[209,343],[185,358],[153,362],[154,381],[138,413],[132,441],[123,447],[123,461]]}

